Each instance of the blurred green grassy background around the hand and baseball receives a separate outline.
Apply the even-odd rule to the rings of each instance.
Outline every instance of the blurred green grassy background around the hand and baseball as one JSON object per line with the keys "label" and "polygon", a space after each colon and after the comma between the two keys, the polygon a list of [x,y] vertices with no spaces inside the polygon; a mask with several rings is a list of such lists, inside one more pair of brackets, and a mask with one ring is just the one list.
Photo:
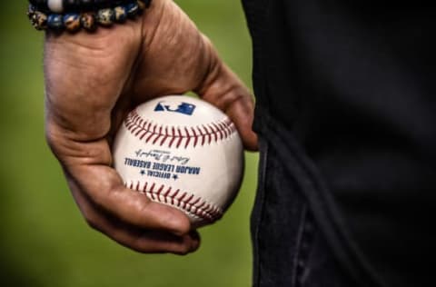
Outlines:
{"label": "blurred green grassy background around the hand and baseball", "polygon": [[[251,86],[250,39],[238,0],[179,0],[223,59]],[[223,220],[200,232],[188,256],[129,251],[91,230],[68,192],[44,137],[43,34],[27,2],[0,12],[0,285],[249,286],[249,215],[257,154],[247,154],[243,188]]]}

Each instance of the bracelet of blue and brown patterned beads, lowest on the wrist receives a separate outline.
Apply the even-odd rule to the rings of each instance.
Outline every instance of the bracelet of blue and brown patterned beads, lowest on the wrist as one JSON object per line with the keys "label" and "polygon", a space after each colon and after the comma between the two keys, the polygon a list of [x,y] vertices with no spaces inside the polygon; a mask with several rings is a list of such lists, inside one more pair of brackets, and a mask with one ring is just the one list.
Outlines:
{"label": "bracelet of blue and brown patterned beads, lowest on the wrist", "polygon": [[[35,2],[36,0],[33,1]],[[97,25],[107,27],[114,23],[124,23],[127,18],[134,19],[148,5],[150,5],[150,1],[129,0],[123,5],[114,6],[114,8],[103,8],[83,13],[49,14],[44,10],[39,10],[37,6],[30,4],[27,16],[36,30],[50,29],[57,33],[66,30],[74,33],[84,28],[88,32],[94,32],[97,29]]]}

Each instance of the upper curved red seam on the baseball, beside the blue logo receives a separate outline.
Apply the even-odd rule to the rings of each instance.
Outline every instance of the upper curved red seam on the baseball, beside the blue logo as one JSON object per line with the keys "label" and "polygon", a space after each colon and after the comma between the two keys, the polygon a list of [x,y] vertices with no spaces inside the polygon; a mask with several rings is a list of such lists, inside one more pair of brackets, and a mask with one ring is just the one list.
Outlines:
{"label": "upper curved red seam on the baseball, beside the blue logo", "polygon": [[[193,127],[158,126],[144,120],[134,109],[124,121],[127,130],[145,143],[152,141],[160,146],[176,148],[188,146],[196,147],[198,144],[211,144],[223,141],[236,131],[236,127],[229,118],[221,122],[202,124]],[[167,141],[169,139],[169,141]],[[183,143],[184,142],[184,143]]]}

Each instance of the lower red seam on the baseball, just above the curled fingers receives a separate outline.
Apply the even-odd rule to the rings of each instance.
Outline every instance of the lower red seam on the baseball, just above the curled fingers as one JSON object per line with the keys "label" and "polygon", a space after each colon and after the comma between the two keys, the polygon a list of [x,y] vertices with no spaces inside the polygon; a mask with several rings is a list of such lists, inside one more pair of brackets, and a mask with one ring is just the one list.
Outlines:
{"label": "lower red seam on the baseball, just above the curled fingers", "polygon": [[[181,193],[181,191],[177,189],[173,194],[171,194],[171,186],[168,186],[166,192],[163,193],[163,190],[165,190],[164,184],[160,185],[157,190],[155,189],[155,183],[151,183],[149,189],[147,189],[147,186],[150,185],[150,183],[147,182],[144,182],[143,188],[141,188],[142,184],[139,181],[136,182],[136,184],[131,182],[124,183],[124,185],[132,190],[145,193],[154,202],[166,203],[173,205],[174,207],[179,207],[184,212],[189,213],[194,217],[198,217],[208,223],[213,223],[223,216],[223,210],[221,210],[219,207],[214,206],[211,203],[207,203],[205,200],[203,200],[203,198],[195,196],[192,193]],[[177,196],[179,194],[181,195]],[[191,201],[193,201],[193,203]]]}

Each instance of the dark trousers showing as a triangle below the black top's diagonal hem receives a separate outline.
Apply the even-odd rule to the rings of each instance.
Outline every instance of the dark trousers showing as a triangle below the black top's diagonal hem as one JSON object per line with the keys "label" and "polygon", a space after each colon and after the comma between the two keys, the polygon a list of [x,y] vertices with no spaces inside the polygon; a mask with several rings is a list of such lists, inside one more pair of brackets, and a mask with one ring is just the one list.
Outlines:
{"label": "dark trousers showing as a triangle below the black top's diagonal hem", "polygon": [[253,286],[356,286],[332,256],[303,194],[283,168],[280,153],[261,141],[252,214]]}

